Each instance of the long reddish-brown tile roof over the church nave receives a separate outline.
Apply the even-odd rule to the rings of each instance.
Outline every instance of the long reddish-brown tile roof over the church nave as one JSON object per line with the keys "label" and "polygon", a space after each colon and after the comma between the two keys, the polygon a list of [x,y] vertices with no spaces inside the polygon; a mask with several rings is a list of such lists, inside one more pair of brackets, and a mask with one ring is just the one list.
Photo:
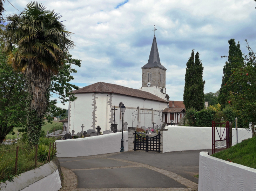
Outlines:
{"label": "long reddish-brown tile roof over the church nave", "polygon": [[92,85],[72,91],[72,93],[75,93],[75,94],[92,93],[92,92],[114,93],[114,94],[121,94],[121,95],[127,95],[127,96],[132,96],[132,97],[144,98],[147,100],[167,102],[166,100],[164,100],[154,94],[151,94],[147,91],[142,91],[139,89],[128,88],[128,87],[119,86],[119,85],[112,84],[112,83],[105,83],[105,82],[97,82]]}

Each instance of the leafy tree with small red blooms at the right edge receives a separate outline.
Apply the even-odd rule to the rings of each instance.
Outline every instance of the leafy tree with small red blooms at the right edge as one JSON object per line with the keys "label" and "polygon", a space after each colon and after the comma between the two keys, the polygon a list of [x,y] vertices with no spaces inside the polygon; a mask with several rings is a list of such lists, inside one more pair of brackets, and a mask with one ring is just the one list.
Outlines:
{"label": "leafy tree with small red blooms at the right edge", "polygon": [[[247,42],[247,40],[245,40]],[[256,55],[247,42],[248,54],[244,62],[232,69],[227,83],[230,98],[228,103],[238,110],[238,124],[248,128],[251,123],[252,136],[256,135]]]}

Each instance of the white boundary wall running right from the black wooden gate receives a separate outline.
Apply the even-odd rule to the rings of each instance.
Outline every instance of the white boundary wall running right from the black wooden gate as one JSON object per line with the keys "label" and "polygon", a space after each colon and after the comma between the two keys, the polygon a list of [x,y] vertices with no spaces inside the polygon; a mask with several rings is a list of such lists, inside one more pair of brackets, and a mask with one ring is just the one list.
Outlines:
{"label": "white boundary wall running right from the black wooden gate", "polygon": [[[180,150],[211,149],[211,127],[180,127],[169,125],[166,128],[168,128],[168,131],[163,132],[163,153]],[[215,136],[217,138],[218,135],[216,133]],[[237,134],[238,142],[252,137],[251,130],[238,129]],[[235,128],[232,128],[232,136],[232,145],[235,145]]]}

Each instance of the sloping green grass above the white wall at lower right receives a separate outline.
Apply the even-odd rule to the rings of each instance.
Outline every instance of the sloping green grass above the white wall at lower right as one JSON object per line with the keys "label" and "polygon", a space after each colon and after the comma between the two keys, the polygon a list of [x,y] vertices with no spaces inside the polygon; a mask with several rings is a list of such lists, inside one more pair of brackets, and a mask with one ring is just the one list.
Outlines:
{"label": "sloping green grass above the white wall at lower right", "polygon": [[256,169],[256,137],[244,140],[212,156]]}

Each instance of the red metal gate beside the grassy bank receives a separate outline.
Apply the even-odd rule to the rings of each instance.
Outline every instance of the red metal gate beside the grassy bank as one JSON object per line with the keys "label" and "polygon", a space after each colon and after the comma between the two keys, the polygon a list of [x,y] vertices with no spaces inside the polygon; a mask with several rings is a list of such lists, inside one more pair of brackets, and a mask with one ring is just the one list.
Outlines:
{"label": "red metal gate beside the grassy bank", "polygon": [[[224,127],[223,127],[224,126]],[[211,153],[217,153],[227,149],[229,146],[229,122],[215,123],[211,122]],[[225,136],[225,137],[224,137]]]}

